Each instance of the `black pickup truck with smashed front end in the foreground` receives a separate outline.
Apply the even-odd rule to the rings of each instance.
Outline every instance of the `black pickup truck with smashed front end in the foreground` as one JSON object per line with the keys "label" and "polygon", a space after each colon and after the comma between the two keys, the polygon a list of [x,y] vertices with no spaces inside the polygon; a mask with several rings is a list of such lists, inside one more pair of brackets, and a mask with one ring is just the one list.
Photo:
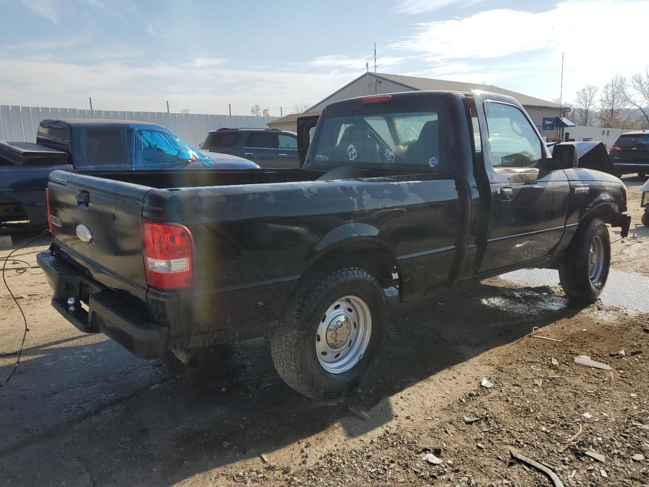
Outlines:
{"label": "black pickup truck with smashed front end in the foreground", "polygon": [[626,188],[577,168],[574,145],[551,156],[515,99],[339,101],[306,151],[308,122],[300,169],[53,172],[38,255],[53,306],[143,358],[270,336],[284,381],[322,399],[375,362],[389,286],[409,301],[535,267],[559,269],[574,301],[601,292]]}

